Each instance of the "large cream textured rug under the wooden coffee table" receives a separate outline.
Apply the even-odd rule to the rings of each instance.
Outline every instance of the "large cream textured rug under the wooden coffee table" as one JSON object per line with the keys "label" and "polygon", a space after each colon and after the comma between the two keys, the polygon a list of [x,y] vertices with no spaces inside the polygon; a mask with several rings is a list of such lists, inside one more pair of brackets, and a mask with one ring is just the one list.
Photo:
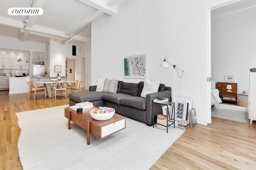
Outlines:
{"label": "large cream textured rug under the wooden coffee table", "polygon": [[74,123],[68,130],[65,106],[16,113],[24,170],[148,170],[184,133],[184,129],[149,127],[126,118],[126,129],[99,140]]}

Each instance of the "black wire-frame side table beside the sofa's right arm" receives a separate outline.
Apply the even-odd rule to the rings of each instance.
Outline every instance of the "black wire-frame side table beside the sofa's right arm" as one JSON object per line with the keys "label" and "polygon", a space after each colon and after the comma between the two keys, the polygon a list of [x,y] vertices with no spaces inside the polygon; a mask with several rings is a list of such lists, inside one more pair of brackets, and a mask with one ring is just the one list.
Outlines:
{"label": "black wire-frame side table beside the sofa's right arm", "polygon": [[[166,125],[162,125],[162,124],[159,124],[159,123],[157,123],[157,122],[154,121],[154,105],[155,105],[155,104],[160,104],[160,105],[161,105],[161,107],[160,107],[160,113],[162,113],[162,111],[161,111],[162,105],[164,105],[164,106],[167,107],[167,108],[166,108],[166,115],[167,115]],[[172,120],[172,117],[170,117],[170,120],[169,120],[169,107],[168,107],[168,106],[170,106],[170,105],[173,106],[171,113],[174,114],[174,108],[175,108],[175,103],[174,103],[174,102],[171,102],[171,101],[164,102],[164,103],[156,103],[156,102],[153,102],[153,113],[152,113],[152,114],[153,114],[153,116],[152,116],[152,117],[153,117],[153,128],[154,128],[154,125],[155,125],[155,124],[164,126],[164,127],[166,127],[166,133],[168,133],[168,127],[171,126],[172,124],[173,124],[173,127],[175,128],[175,116],[173,116],[173,120]],[[168,125],[168,122],[172,122],[172,123],[170,123],[170,124]]]}

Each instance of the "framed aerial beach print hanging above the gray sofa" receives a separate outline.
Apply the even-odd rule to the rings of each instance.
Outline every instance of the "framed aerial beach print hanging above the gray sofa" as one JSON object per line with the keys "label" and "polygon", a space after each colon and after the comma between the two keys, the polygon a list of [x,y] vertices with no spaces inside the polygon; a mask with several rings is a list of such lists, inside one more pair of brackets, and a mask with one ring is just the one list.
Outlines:
{"label": "framed aerial beach print hanging above the gray sofa", "polygon": [[147,54],[124,57],[124,78],[146,78],[147,77]]}

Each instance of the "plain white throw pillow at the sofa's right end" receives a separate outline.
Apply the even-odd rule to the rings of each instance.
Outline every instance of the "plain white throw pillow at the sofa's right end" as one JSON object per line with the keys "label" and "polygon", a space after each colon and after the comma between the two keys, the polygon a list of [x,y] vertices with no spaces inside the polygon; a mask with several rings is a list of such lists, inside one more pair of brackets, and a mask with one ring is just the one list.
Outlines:
{"label": "plain white throw pillow at the sofa's right end", "polygon": [[159,85],[160,85],[160,80],[151,82],[148,78],[145,78],[144,86],[140,94],[140,97],[146,98],[147,94],[158,92]]}

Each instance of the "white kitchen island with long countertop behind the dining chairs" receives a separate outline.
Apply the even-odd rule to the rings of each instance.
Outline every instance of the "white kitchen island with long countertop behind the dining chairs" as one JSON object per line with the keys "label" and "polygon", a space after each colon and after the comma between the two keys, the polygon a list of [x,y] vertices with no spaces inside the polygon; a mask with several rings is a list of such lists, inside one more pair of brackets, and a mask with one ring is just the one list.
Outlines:
{"label": "white kitchen island with long countertop behind the dining chairs", "polygon": [[[29,81],[50,81],[52,78],[58,77],[9,77],[9,94],[28,93]],[[67,77],[61,77],[66,81]],[[51,96],[51,94],[50,94]]]}

